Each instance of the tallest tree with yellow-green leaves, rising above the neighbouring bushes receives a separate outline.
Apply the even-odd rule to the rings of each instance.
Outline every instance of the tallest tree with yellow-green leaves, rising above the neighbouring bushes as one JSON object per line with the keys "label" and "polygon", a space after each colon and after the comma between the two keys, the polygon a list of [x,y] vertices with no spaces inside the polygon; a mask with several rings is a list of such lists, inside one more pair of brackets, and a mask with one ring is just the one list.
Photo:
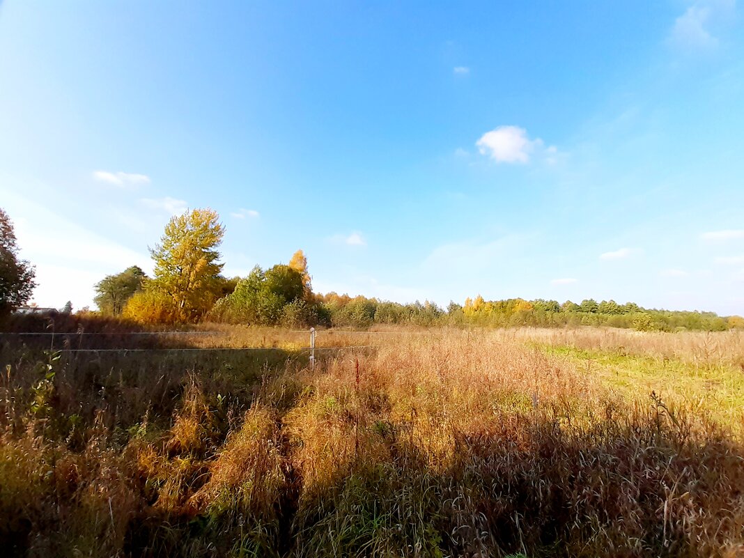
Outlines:
{"label": "tallest tree with yellow-green leaves, rising above the neighbouring bushes", "polygon": [[217,247],[224,234],[216,211],[194,209],[172,217],[160,243],[150,250],[155,278],[148,288],[172,299],[176,319],[196,320],[217,300],[222,272]]}

